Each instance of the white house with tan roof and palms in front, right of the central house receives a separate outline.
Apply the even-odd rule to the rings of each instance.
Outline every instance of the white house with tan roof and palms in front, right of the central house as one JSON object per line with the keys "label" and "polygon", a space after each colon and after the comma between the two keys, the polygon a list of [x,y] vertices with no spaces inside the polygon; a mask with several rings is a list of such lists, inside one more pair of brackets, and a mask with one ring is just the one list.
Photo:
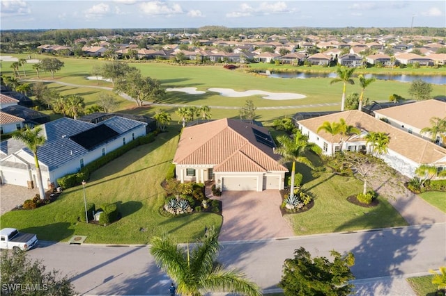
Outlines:
{"label": "white house with tan roof and palms in front, right of the central house", "polygon": [[[408,104],[408,106],[413,106],[413,104]],[[344,136],[344,141],[341,142],[341,135],[339,134],[332,136],[325,131],[316,132],[323,122],[339,122],[341,118],[344,118],[347,124],[360,129],[362,133],[350,137]],[[300,120],[298,127],[303,134],[309,136],[310,142],[316,143],[323,149],[323,154],[325,155],[332,155],[332,151],[339,150],[367,151],[364,136],[370,131],[376,131],[387,133],[390,137],[387,153],[379,157],[383,158],[385,163],[401,174],[411,178],[415,176],[417,167],[420,167],[422,164],[438,167],[438,171],[446,170],[445,148],[407,131],[397,129],[391,124],[387,124],[358,110],[348,110],[308,120]]]}

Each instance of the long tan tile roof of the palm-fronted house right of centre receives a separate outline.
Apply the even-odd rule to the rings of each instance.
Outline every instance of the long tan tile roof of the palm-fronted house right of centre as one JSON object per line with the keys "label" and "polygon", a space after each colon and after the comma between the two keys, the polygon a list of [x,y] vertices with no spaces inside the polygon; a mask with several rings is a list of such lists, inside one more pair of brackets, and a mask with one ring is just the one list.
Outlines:
{"label": "long tan tile roof of the palm-fronted house right of centre", "polygon": [[[390,143],[388,149],[405,156],[415,163],[426,164],[446,164],[446,149],[433,144],[429,140],[424,140],[397,129],[390,124],[376,119],[366,113],[358,110],[348,110],[344,112],[334,113],[321,117],[311,118],[309,120],[301,120],[298,124],[305,126],[310,131],[316,133],[319,126],[323,122],[339,122],[341,118],[346,120],[347,124],[356,126],[358,129],[364,131],[378,131],[387,133],[390,136]],[[319,131],[318,135],[328,141],[340,142],[341,135],[335,135],[332,140],[332,135],[325,131]]]}

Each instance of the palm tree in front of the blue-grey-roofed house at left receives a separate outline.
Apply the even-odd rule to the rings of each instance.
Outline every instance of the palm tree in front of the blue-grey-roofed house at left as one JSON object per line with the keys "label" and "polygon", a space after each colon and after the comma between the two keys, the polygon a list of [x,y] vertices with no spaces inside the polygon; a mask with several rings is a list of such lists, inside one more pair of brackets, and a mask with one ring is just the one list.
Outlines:
{"label": "palm tree in front of the blue-grey-roofed house at left", "polygon": [[38,147],[45,144],[47,139],[45,138],[45,135],[40,134],[40,131],[42,131],[41,126],[36,126],[34,129],[31,129],[31,126],[25,126],[24,129],[17,129],[17,131],[13,131],[13,138],[15,140],[22,141],[24,145],[33,153],[40,199],[45,199],[45,190],[43,190],[42,172],[40,172],[37,150]]}

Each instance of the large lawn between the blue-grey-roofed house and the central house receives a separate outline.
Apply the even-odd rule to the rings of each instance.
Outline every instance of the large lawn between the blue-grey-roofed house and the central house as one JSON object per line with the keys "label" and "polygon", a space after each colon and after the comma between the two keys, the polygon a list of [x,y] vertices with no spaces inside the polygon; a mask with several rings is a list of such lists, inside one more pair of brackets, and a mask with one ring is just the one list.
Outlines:
{"label": "large lawn between the blue-grey-roofed house and the central house", "polygon": [[77,186],[65,190],[47,206],[2,215],[1,227],[37,233],[40,240],[67,241],[76,234],[87,236],[89,243],[107,244],[146,244],[164,231],[178,241],[192,242],[202,236],[204,225],[220,231],[220,215],[199,213],[167,218],[159,213],[164,204],[160,183],[177,143],[178,129],[173,126],[168,133],[157,135],[155,142],[132,149],[91,174],[86,184],[87,202],[94,202],[97,208],[115,202],[123,216],[118,222],[107,227],[77,222],[84,208],[82,186]]}

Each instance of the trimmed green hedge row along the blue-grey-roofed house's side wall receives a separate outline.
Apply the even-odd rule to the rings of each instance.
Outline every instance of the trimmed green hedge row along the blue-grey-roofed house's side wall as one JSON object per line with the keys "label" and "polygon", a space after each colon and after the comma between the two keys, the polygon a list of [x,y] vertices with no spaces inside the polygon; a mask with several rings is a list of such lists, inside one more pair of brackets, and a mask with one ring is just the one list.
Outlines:
{"label": "trimmed green hedge row along the blue-grey-roofed house's side wall", "polygon": [[111,151],[109,154],[102,156],[95,161],[92,161],[88,165],[82,167],[80,172],[74,174],[67,174],[59,179],[57,179],[57,184],[61,186],[61,188],[71,188],[74,186],[78,186],[82,183],[83,180],[88,180],[91,172],[98,170],[100,167],[106,165],[110,161],[122,156],[126,152],[130,151],[134,147],[138,147],[140,145],[145,145],[151,143],[155,140],[155,133],[148,133],[148,135],[144,135],[142,137],[136,138],[132,142],[129,142],[127,145],[119,147],[118,149]]}

